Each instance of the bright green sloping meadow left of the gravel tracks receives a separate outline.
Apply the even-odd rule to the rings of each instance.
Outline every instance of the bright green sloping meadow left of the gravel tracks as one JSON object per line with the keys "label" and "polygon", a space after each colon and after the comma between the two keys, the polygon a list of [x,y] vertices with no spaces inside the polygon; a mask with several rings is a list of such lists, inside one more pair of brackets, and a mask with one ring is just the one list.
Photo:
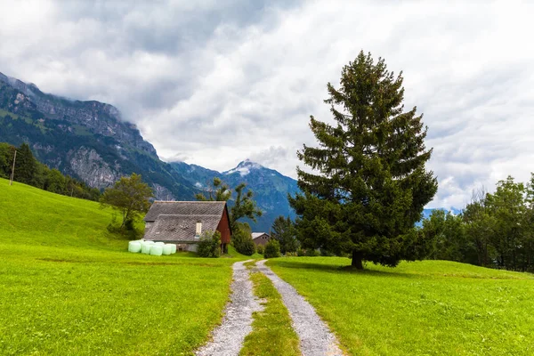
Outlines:
{"label": "bright green sloping meadow left of the gravel tracks", "polygon": [[[236,258],[126,252],[97,203],[0,179],[0,354],[190,354]],[[239,258],[239,256],[238,256]]]}

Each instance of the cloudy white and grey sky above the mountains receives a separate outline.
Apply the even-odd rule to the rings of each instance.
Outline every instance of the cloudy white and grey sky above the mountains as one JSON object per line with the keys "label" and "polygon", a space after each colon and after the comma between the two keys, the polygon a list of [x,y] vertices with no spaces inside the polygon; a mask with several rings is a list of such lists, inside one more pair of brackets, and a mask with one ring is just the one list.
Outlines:
{"label": "cloudy white and grey sky above the mountains", "polygon": [[430,206],[534,171],[527,2],[0,0],[0,13],[0,72],[117,106],[166,160],[251,158],[295,177],[309,116],[330,119],[326,84],[364,50],[404,71],[405,103],[425,114]]}

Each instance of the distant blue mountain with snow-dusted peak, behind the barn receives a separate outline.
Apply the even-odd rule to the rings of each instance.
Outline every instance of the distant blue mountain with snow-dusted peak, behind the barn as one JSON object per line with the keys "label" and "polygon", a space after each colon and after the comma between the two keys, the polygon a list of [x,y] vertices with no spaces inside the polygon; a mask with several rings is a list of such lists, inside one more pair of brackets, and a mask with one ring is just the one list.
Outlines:
{"label": "distant blue mountain with snow-dusted peak, behind the barn", "polygon": [[[254,231],[268,232],[279,215],[295,218],[295,212],[287,202],[287,194],[294,195],[298,191],[296,181],[273,169],[250,160],[240,162],[235,168],[222,173],[184,162],[173,162],[170,165],[199,190],[209,189],[214,177],[220,178],[231,188],[241,182],[247,183],[247,188],[254,191],[257,205],[263,210],[262,217],[256,223],[248,222]],[[232,201],[229,205],[232,205]]]}

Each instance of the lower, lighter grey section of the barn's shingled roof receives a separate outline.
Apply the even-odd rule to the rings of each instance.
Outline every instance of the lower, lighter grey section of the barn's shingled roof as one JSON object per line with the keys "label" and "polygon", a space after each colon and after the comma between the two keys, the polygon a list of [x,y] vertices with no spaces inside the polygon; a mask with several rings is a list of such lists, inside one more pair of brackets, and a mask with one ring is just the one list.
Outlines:
{"label": "lower, lighter grey section of the barn's shingled roof", "polygon": [[202,223],[202,232],[216,231],[221,215],[170,215],[160,214],[144,239],[154,241],[192,242],[197,223]]}

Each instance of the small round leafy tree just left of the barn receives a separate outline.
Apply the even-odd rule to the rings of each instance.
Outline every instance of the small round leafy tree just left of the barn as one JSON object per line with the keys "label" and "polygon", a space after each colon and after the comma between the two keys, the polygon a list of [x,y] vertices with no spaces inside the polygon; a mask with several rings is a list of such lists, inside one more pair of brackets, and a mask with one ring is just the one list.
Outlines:
{"label": "small round leafy tree just left of the barn", "polygon": [[101,206],[111,206],[122,214],[121,228],[127,221],[146,213],[150,208],[150,198],[154,194],[147,183],[142,182],[140,174],[121,177],[113,187],[107,188],[101,196]]}

